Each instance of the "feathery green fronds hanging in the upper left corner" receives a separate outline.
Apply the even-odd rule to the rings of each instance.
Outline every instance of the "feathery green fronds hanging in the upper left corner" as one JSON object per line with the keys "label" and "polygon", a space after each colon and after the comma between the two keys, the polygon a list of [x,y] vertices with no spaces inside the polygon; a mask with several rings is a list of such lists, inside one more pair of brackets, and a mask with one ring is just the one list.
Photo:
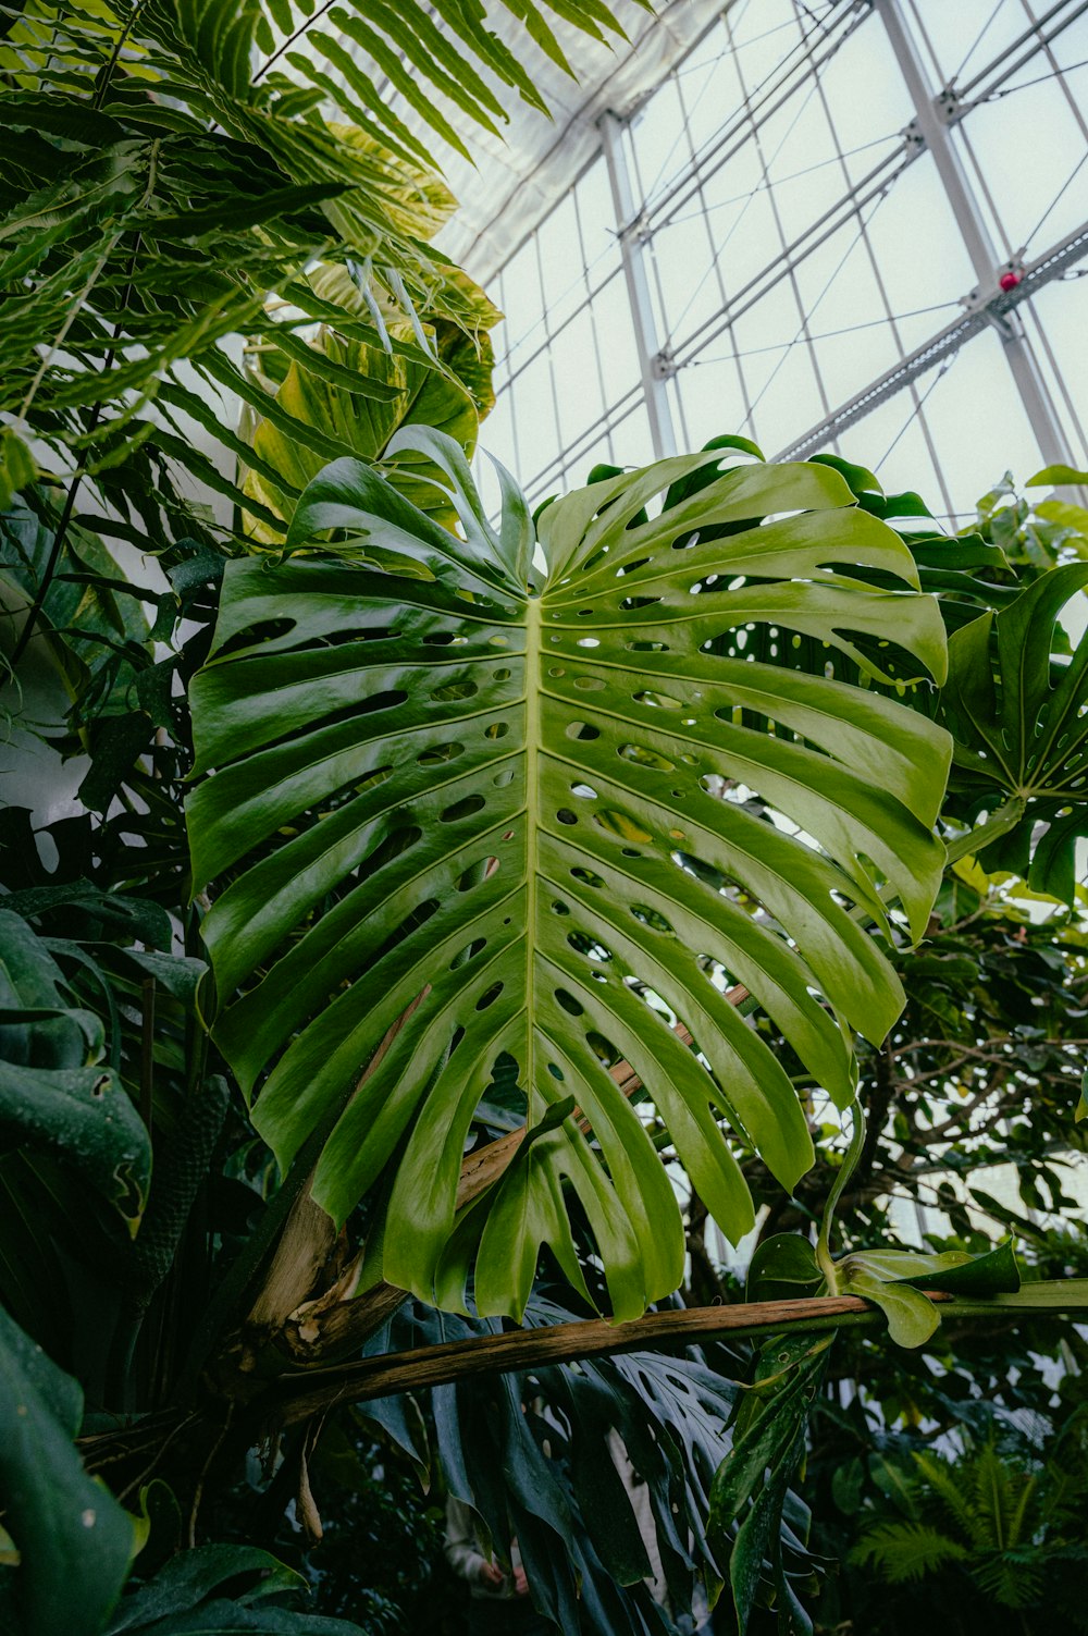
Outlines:
{"label": "feathery green fronds hanging in the upper left corner", "polygon": [[[550,49],[543,18],[527,0],[510,3],[532,49]],[[530,69],[492,38],[481,8],[438,7],[442,46],[419,3],[365,10],[365,18],[345,10],[347,46],[337,49],[345,56],[383,39],[386,69],[396,62],[394,77],[425,90],[434,123],[442,115],[432,88],[455,93],[481,119],[497,116],[501,98],[483,69],[499,88],[533,95]],[[591,33],[609,23],[599,0],[558,11]],[[332,363],[268,312],[268,291],[293,303],[294,324],[322,319],[344,345],[393,350],[417,370],[456,378],[435,326],[473,335],[479,311],[456,270],[427,249],[453,201],[425,169],[422,146],[407,139],[384,92],[375,88],[365,110],[357,100],[345,106],[344,95],[330,108],[347,80],[309,75],[299,85],[298,75],[268,70],[276,41],[298,36],[283,61],[311,64],[322,41],[332,49],[335,26],[327,7],[291,0],[90,8],[28,0],[0,41],[0,412],[51,448],[61,470],[113,470],[116,494],[131,476],[128,455],[146,445],[281,538],[278,510],[231,474],[232,396],[260,417],[275,406],[245,380],[227,337],[294,344],[294,362],[316,380],[327,380]],[[353,44],[352,29],[362,31]],[[358,62],[352,72],[363,72]],[[324,113],[353,123],[327,123]],[[306,268],[316,257],[350,270],[362,311],[329,290],[312,293]],[[391,311],[411,326],[393,340]],[[219,471],[175,424],[191,407],[178,398],[191,391],[178,375],[183,360],[224,393],[219,409],[213,389],[203,416],[227,455]],[[402,384],[380,370],[353,375],[357,396],[404,399]],[[290,412],[280,412],[280,427],[306,442]],[[322,460],[357,452],[309,434]]]}

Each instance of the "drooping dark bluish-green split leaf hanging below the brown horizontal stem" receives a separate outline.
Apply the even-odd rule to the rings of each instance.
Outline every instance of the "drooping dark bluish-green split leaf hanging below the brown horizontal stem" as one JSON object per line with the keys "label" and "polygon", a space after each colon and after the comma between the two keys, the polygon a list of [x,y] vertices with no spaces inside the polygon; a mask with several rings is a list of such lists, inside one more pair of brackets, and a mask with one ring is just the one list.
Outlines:
{"label": "drooping dark bluish-green split leaf hanging below the brown horizontal stem", "polygon": [[[532,1327],[576,1315],[545,1296],[535,1296],[525,1314]],[[370,1348],[456,1340],[492,1328],[416,1306]],[[705,1517],[736,1396],[728,1378],[735,1368],[736,1360],[722,1348],[679,1358],[635,1353],[432,1394],[434,1456],[445,1487],[478,1512],[499,1556],[517,1536],[533,1600],[560,1631],[656,1636],[666,1629],[641,1585],[650,1561],[630,1482],[648,1494],[674,1616],[690,1610],[700,1582],[717,1585],[720,1569]],[[368,1414],[414,1448],[394,1402],[389,1412],[371,1404]],[[622,1477],[615,1463],[623,1449],[633,1477]]]}

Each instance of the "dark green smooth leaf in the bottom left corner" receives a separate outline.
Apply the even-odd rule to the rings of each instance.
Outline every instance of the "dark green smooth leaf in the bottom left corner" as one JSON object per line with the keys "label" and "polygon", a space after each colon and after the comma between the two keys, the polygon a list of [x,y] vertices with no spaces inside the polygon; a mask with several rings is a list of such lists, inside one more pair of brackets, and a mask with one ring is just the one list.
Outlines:
{"label": "dark green smooth leaf in the bottom left corner", "polygon": [[134,1518],[72,1445],[82,1409],[79,1384],[0,1307],[0,1507],[34,1636],[98,1636],[137,1543]]}

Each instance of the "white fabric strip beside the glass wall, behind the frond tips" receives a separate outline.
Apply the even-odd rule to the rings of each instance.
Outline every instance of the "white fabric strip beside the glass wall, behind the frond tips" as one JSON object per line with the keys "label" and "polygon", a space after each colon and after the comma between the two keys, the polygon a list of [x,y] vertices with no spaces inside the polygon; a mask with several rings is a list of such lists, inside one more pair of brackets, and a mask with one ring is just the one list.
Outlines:
{"label": "white fabric strip beside the glass wall, behind the frond tips", "polygon": [[[524,23],[509,11],[492,13],[494,33],[510,44],[551,108],[548,119],[535,108],[510,103],[510,88],[497,87],[510,123],[504,139],[494,137],[456,108],[445,116],[474,157],[474,167],[402,105],[398,113],[442,162],[445,178],[460,201],[456,216],[437,239],[452,260],[481,285],[496,275],[533,227],[558,203],[600,146],[596,121],[607,110],[630,115],[725,10],[725,0],[671,0],[656,13],[635,0],[614,0],[627,41],[614,34],[599,44],[569,25],[553,20],[555,34],[578,74],[569,79],[527,38]],[[492,82],[494,83],[494,82]]]}

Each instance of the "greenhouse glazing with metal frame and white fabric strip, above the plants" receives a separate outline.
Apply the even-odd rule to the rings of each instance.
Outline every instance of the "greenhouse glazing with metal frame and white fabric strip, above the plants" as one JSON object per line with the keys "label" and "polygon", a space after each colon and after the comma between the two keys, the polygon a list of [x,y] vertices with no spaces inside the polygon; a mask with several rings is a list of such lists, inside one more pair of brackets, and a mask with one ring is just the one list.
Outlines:
{"label": "greenhouse glazing with metal frame and white fabric strip, above the plants", "polygon": [[[506,312],[483,443],[542,499],[720,434],[952,524],[1088,458],[1085,0],[674,0],[447,155]],[[517,28],[517,25],[509,25]]]}

